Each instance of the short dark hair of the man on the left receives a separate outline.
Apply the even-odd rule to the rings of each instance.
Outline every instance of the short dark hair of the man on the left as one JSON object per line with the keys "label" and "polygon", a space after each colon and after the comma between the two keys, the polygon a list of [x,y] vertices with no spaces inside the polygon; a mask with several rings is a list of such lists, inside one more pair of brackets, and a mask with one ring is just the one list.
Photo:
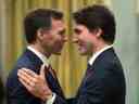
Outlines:
{"label": "short dark hair of the man on the left", "polygon": [[25,36],[28,43],[36,40],[36,34],[39,28],[51,28],[51,20],[62,20],[63,13],[50,9],[37,9],[31,11],[24,18]]}

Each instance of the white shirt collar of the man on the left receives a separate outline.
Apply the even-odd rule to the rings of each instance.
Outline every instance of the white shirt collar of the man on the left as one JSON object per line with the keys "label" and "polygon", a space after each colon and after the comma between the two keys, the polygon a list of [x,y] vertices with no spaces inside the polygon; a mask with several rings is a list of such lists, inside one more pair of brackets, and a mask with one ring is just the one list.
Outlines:
{"label": "white shirt collar of the man on the left", "polygon": [[33,53],[35,53],[46,66],[49,66],[49,60],[47,56],[45,56],[42,53],[40,53],[38,50],[34,49],[31,46],[27,47],[28,50],[30,50]]}

